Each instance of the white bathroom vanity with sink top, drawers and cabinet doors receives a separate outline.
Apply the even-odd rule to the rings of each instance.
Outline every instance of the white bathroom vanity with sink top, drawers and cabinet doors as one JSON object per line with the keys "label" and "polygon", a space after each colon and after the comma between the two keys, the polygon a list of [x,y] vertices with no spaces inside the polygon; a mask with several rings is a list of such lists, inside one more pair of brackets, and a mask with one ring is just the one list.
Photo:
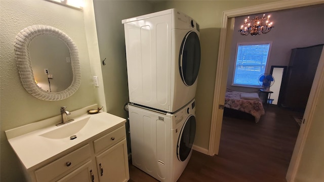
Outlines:
{"label": "white bathroom vanity with sink top, drawers and cabinet doors", "polygon": [[6,131],[28,181],[129,180],[126,120],[105,112],[75,116],[87,109],[61,126],[53,117]]}

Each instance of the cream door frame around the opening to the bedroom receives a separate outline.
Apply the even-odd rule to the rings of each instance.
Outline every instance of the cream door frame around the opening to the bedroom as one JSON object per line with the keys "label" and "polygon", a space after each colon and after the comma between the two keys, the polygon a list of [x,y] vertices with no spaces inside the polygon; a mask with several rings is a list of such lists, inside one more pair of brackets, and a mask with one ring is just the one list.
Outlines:
{"label": "cream door frame around the opening to the bedroom", "polygon": [[[219,42],[219,53],[216,69],[215,88],[214,88],[214,99],[213,99],[213,112],[211,118],[211,131],[210,141],[208,148],[208,155],[218,155],[219,143],[221,136],[221,127],[223,119],[223,109],[221,105],[224,105],[226,82],[227,82],[227,70],[230,56],[230,43],[231,33],[234,30],[234,17],[244,16],[250,14],[257,14],[270,11],[286,10],[292,8],[306,7],[311,5],[323,4],[321,0],[317,1],[279,1],[269,4],[257,5],[247,8],[235,9],[224,11],[222,16],[220,42]],[[308,134],[309,127],[313,118],[313,111],[317,103],[317,98],[321,91],[321,85],[324,84],[324,53],[322,52],[316,75],[312,85],[312,90],[309,95],[307,107],[305,110],[304,118],[308,121],[306,124],[302,124],[300,128],[300,134],[298,135],[297,142],[295,145],[294,153],[291,159],[290,167],[287,172],[287,179],[289,181],[294,179],[297,168],[299,165],[301,152],[303,150],[305,139]],[[307,113],[306,113],[307,112]],[[305,126],[304,126],[305,125]],[[304,126],[304,127],[303,127]]]}

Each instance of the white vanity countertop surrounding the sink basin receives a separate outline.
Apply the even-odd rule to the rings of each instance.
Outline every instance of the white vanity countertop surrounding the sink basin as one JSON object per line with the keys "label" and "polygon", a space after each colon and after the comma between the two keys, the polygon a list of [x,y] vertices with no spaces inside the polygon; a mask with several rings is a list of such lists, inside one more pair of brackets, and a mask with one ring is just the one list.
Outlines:
{"label": "white vanity countertop surrounding the sink basin", "polygon": [[[77,138],[74,140],[70,140],[69,136],[61,139],[50,139],[42,136],[44,133],[73,123],[75,124],[75,122],[87,118],[89,118],[89,121],[83,129],[76,133]],[[61,126],[55,126],[55,124],[53,124],[51,126],[15,136],[14,138],[9,138],[7,134],[8,141],[25,168],[29,169],[105,130],[126,122],[126,119],[106,112],[100,112],[98,114],[84,114],[73,119],[75,119],[75,121]],[[28,127],[30,128],[30,126]],[[19,127],[19,130],[23,130],[23,126]],[[14,129],[10,132],[14,132]]]}

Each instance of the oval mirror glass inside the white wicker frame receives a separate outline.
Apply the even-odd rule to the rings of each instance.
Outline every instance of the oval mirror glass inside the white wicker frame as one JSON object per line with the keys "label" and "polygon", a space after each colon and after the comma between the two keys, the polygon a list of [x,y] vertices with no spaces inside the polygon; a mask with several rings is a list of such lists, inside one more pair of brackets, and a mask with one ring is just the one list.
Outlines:
{"label": "oval mirror glass inside the white wicker frame", "polygon": [[48,34],[34,37],[29,44],[29,56],[38,87],[58,93],[72,84],[70,52],[59,38]]}

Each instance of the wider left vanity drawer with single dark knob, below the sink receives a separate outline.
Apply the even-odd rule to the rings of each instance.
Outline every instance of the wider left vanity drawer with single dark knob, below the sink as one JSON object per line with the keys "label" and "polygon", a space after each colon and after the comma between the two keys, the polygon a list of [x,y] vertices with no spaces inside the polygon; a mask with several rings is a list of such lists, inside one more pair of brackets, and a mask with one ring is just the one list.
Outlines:
{"label": "wider left vanity drawer with single dark knob, below the sink", "polygon": [[35,170],[37,181],[50,181],[60,174],[68,171],[83,161],[90,158],[89,144],[76,149],[75,151],[49,163],[48,165]]}

